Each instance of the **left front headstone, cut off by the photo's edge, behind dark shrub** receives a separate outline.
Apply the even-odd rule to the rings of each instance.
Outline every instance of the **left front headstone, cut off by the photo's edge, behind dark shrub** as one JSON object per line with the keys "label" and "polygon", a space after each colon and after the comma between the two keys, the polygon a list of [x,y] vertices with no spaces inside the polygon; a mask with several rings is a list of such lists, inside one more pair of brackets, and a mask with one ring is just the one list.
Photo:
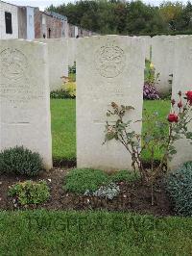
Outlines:
{"label": "left front headstone, cut off by the photo's edge, behind dark shrub", "polygon": [[23,145],[52,167],[47,46],[0,40],[0,150]]}

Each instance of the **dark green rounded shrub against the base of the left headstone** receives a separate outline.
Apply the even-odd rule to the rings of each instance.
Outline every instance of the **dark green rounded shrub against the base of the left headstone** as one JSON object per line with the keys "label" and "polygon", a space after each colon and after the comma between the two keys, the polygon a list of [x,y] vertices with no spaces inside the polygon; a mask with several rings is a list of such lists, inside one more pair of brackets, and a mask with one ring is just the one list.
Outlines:
{"label": "dark green rounded shrub against the base of the left headstone", "polygon": [[0,153],[0,173],[36,176],[43,169],[39,154],[16,146]]}

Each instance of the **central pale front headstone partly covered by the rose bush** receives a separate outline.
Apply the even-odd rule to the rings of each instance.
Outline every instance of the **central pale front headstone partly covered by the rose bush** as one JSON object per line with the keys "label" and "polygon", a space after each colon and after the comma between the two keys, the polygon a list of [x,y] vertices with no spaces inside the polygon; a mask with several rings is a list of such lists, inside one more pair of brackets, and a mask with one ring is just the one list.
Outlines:
{"label": "central pale front headstone partly covered by the rose bush", "polygon": [[[78,39],[77,165],[106,170],[132,169],[131,155],[119,141],[105,139],[111,102],[135,108],[142,117],[145,47],[141,38],[104,36]],[[141,123],[132,129],[141,133]]]}

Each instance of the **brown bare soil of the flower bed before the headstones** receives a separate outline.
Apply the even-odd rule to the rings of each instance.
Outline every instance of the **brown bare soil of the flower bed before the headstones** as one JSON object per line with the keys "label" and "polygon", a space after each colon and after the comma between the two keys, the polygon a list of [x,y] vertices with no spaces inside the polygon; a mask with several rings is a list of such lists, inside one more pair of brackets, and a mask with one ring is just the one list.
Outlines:
{"label": "brown bare soil of the flower bed before the headstones", "polygon": [[[161,185],[154,190],[154,205],[151,203],[151,188],[136,183],[119,183],[120,194],[112,199],[85,196],[63,190],[64,176],[69,169],[53,168],[49,172],[43,172],[33,180],[45,180],[50,187],[50,199],[41,205],[30,206],[30,209],[48,210],[108,210],[136,212],[140,214],[152,214],[155,216],[174,215],[170,200]],[[0,210],[17,210],[19,208],[15,201],[8,196],[9,187],[19,181],[29,178],[0,175]]]}

